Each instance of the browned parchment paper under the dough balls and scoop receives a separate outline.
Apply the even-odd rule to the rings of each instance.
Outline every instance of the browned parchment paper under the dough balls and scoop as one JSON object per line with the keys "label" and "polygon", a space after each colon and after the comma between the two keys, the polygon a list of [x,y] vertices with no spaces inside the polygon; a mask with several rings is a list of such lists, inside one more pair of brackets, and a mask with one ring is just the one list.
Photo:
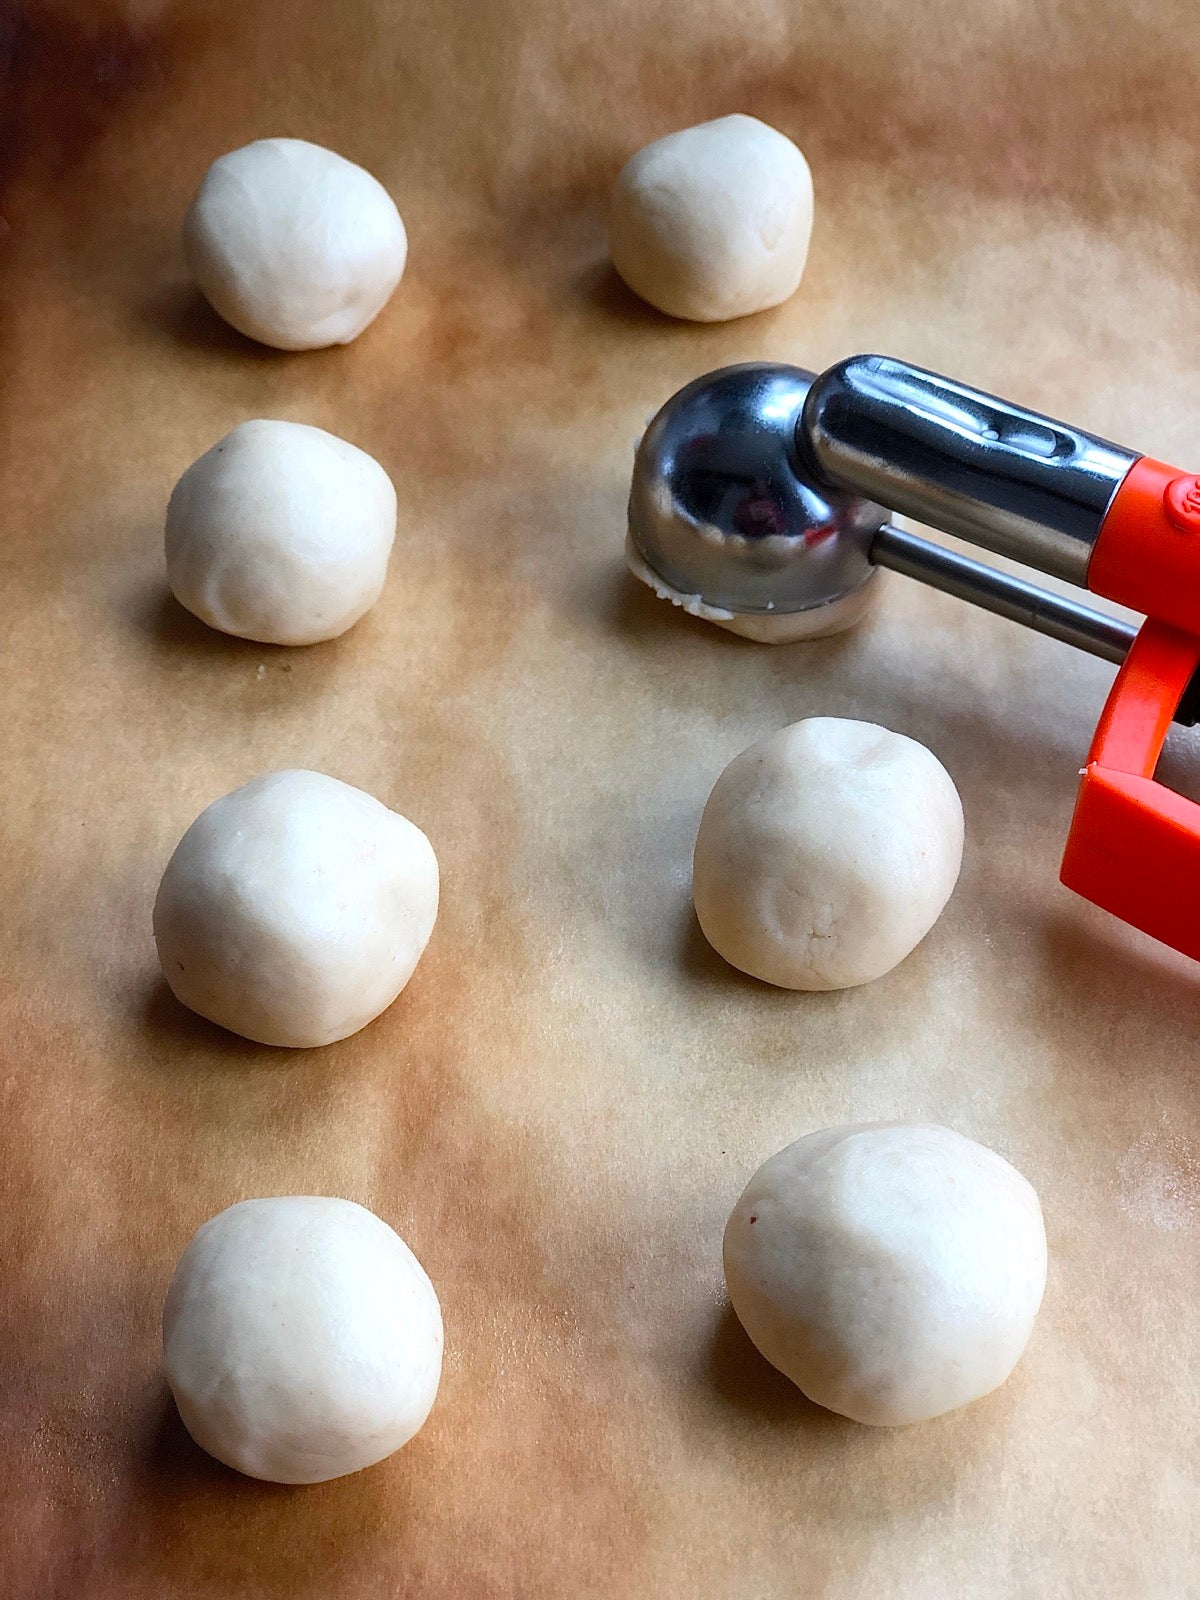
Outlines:
{"label": "browned parchment paper under the dough balls and scoop", "polygon": [[[621,565],[642,426],[730,360],[882,349],[1198,466],[1192,0],[0,18],[0,1590],[1200,1594],[1200,970],[1056,885],[1109,669],[902,581],[843,640],[750,646]],[[734,109],[811,158],[810,270],[688,328],[605,266],[603,197]],[[258,349],[187,286],[203,168],[275,133],[363,162],[410,224],[349,349]],[[165,595],[171,483],[262,414],[398,485],[386,597],[331,645],[238,643]],[[739,978],[688,899],[720,768],[814,712],[928,742],[968,818],[939,926],[840,995]],[[192,816],[283,765],[381,795],[443,866],[408,992],[310,1053],[184,1013],[149,926]],[[720,1235],[768,1154],[894,1115],[1029,1174],[1051,1274],[1005,1389],[872,1432],[754,1355]],[[158,1371],[192,1230],[296,1190],[395,1224],[448,1331],[421,1437],[310,1490],[208,1461]]]}

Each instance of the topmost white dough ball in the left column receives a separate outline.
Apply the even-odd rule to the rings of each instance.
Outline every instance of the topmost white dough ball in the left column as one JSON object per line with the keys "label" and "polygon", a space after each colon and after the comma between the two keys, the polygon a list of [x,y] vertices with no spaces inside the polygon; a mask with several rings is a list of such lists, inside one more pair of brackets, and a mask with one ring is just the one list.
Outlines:
{"label": "topmost white dough ball in the left column", "polygon": [[238,333],[280,350],[349,344],[400,282],[408,237],[384,186],[304,139],[256,139],[205,173],[184,256]]}

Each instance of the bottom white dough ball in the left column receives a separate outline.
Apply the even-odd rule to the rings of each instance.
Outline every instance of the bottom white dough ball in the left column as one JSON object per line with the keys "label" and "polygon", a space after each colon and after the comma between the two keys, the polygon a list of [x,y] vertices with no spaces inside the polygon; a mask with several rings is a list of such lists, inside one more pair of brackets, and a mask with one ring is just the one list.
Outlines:
{"label": "bottom white dough ball in the left column", "polygon": [[251,1478],[323,1483],[406,1445],[442,1376],[442,1309],[352,1200],[243,1200],[195,1234],[163,1306],[179,1416]]}

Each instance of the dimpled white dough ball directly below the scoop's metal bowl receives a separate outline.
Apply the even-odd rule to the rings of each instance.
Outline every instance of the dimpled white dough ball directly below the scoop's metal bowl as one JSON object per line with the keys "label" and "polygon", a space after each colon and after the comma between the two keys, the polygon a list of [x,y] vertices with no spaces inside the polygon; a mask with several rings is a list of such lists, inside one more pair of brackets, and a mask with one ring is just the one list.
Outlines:
{"label": "dimpled white dough ball directly below the scoop's metal bowl", "polygon": [[869,722],[810,717],[720,774],[691,893],[733,966],[782,989],[848,989],[920,944],[962,859],[963,808],[936,755]]}

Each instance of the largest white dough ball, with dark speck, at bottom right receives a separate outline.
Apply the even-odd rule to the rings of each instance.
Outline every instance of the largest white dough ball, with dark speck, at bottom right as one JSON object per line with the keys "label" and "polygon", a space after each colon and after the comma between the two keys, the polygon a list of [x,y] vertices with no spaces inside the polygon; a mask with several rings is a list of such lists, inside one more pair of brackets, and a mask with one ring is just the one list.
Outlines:
{"label": "largest white dough ball, with dark speck, at bottom right", "polygon": [[725,1282],[810,1400],[920,1422],[990,1394],[1021,1358],[1046,1283],[1042,1208],[1016,1168],[949,1128],[826,1128],[746,1186]]}

